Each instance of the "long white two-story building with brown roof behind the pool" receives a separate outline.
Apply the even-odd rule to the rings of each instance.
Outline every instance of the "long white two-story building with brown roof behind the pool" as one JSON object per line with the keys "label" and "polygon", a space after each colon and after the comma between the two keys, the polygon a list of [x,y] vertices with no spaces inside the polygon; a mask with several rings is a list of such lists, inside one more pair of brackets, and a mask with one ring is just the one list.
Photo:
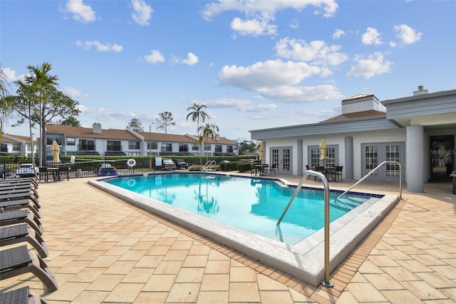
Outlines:
{"label": "long white two-story building with brown roof behind the pool", "polygon": [[51,158],[51,144],[54,140],[60,147],[61,155],[68,156],[232,156],[238,151],[237,142],[224,137],[209,138],[199,151],[196,137],[190,134],[103,129],[100,123],[93,123],[92,128],[46,125],[48,158]]}

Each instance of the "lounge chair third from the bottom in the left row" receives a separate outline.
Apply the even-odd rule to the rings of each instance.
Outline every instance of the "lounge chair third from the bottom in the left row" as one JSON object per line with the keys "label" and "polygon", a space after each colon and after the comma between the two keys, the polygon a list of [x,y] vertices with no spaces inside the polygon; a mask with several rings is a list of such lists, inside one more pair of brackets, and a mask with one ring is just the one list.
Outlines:
{"label": "lounge chair third from the bottom in the left row", "polygon": [[48,256],[48,246],[41,235],[30,228],[27,223],[0,228],[0,243],[2,246],[27,242],[38,251],[41,258]]}

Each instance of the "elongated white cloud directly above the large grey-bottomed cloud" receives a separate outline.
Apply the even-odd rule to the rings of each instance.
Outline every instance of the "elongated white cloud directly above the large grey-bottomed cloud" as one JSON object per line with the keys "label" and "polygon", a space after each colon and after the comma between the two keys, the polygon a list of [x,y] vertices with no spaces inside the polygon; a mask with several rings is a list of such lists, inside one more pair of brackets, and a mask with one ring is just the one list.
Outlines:
{"label": "elongated white cloud directly above the large grey-bottomed cloud", "polygon": [[341,46],[328,46],[324,41],[311,41],[309,44],[301,39],[284,38],[275,46],[277,56],[297,61],[311,61],[323,66],[338,66],[348,57],[339,52]]}

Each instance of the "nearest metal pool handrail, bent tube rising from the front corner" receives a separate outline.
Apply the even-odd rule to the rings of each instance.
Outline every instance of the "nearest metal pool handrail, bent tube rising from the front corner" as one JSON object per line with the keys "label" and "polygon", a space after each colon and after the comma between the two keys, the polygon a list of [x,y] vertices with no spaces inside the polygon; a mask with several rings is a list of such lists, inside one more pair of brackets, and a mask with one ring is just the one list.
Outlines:
{"label": "nearest metal pool handrail, bent tube rising from the front corner", "polygon": [[313,171],[313,170],[308,170],[304,173],[304,176],[301,178],[301,181],[299,181],[298,186],[296,186],[296,190],[294,191],[293,196],[291,196],[288,205],[286,205],[284,212],[282,213],[282,215],[279,218],[279,221],[277,221],[277,226],[279,226],[279,224],[281,223],[282,219],[285,216],[286,211],[288,211],[288,209],[290,208],[291,203],[293,203],[294,198],[296,198],[296,196],[298,195],[299,191],[301,190],[301,187],[304,184],[304,181],[306,181],[308,176],[316,176],[316,177],[320,178],[321,181],[323,182],[324,193],[325,193],[325,198],[324,198],[325,199],[325,201],[324,201],[325,202],[325,215],[324,215],[324,217],[325,217],[325,227],[324,227],[325,228],[325,231],[324,231],[324,235],[325,235],[325,257],[324,257],[325,276],[324,276],[323,280],[321,280],[320,283],[321,283],[321,285],[323,285],[325,287],[332,288],[334,286],[334,284],[331,282],[331,280],[329,280],[329,270],[330,270],[330,268],[329,268],[329,184],[328,184],[328,179],[326,178],[326,176],[323,175],[323,173]]}

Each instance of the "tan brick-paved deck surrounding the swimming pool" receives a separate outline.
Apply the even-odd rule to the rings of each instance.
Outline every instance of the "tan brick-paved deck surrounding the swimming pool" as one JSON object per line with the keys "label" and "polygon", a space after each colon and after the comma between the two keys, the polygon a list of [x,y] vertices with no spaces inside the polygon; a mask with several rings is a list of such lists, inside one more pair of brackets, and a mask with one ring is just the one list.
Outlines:
{"label": "tan brick-paved deck surrounding the swimming pool", "polygon": [[[58,290],[48,293],[29,273],[1,280],[2,292],[29,285],[48,303],[456,303],[456,196],[451,183],[428,183],[425,193],[404,190],[403,201],[331,273],[334,287],[324,288],[87,182],[73,178],[40,183],[38,189],[49,250],[45,260]],[[355,190],[397,194],[398,183],[365,181]]]}

